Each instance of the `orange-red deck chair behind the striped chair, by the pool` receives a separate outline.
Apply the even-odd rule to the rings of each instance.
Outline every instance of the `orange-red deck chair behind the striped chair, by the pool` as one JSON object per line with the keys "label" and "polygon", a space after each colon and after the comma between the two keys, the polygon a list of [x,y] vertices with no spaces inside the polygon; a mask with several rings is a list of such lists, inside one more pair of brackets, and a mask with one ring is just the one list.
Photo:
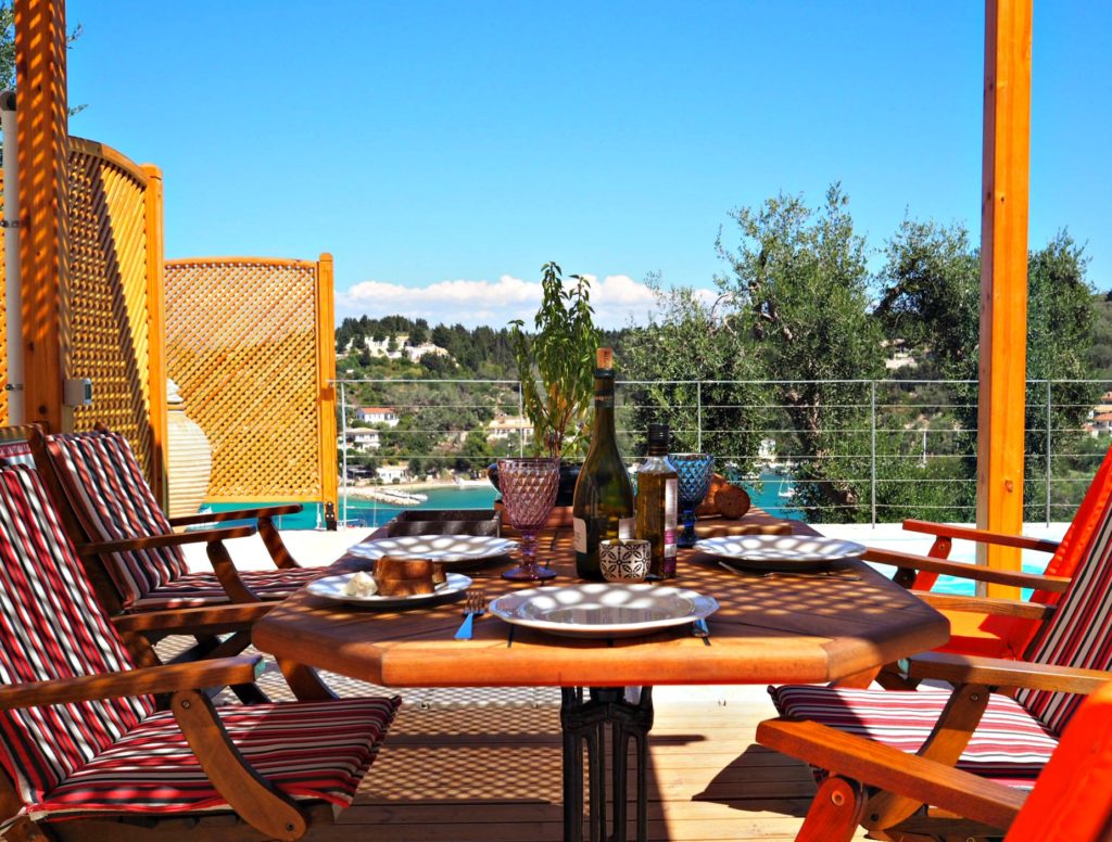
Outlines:
{"label": "orange-red deck chair behind the striped chair, by the pool", "polygon": [[[1070,579],[1080,569],[1092,563],[1093,537],[1112,514],[1112,449],[1105,453],[1100,469],[1070,523],[1061,542],[1043,541],[1023,535],[1006,535],[967,527],[952,527],[925,521],[904,521],[904,529],[935,537],[927,557],[890,550],[870,549],[862,558],[897,568],[895,581],[910,588],[924,601],[940,610],[950,620],[950,642],[940,652],[976,654],[989,658],[1023,658],[1040,627],[1054,613]],[[954,540],[970,540],[1035,550],[1050,554],[1042,574],[1019,571],[990,570],[974,564],[949,561]],[[949,574],[981,582],[1016,585],[1032,589],[1029,601],[955,597],[933,593],[939,575]],[[891,689],[907,689],[906,681],[896,665],[886,668],[878,675],[871,673],[846,685],[867,686],[872,678]]]}

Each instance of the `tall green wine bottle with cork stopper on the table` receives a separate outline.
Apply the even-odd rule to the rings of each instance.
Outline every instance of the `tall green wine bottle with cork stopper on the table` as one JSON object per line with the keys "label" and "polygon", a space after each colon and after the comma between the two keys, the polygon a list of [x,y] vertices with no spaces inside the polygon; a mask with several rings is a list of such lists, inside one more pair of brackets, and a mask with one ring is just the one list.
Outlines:
{"label": "tall green wine bottle with cork stopper on the table", "polygon": [[595,419],[590,448],[579,470],[572,502],[575,572],[602,580],[598,542],[634,537],[633,485],[614,434],[614,353],[598,349],[595,369]]}

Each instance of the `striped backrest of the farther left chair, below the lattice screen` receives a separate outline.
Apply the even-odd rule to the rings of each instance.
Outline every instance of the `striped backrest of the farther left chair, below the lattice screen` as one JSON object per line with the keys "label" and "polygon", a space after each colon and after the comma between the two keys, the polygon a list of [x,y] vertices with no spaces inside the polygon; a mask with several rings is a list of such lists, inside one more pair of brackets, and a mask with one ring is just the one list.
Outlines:
{"label": "striped backrest of the farther left chair, below the lattice screen", "polygon": [[[172,531],[122,435],[107,430],[47,435],[44,445],[83,540],[118,541]],[[102,562],[123,608],[188,569],[178,547],[106,554]]]}

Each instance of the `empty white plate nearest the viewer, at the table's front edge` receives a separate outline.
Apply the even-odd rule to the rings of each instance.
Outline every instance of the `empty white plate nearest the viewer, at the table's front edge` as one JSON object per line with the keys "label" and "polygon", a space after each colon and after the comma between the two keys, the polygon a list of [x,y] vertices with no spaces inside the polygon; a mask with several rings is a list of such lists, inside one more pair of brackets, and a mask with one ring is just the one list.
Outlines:
{"label": "empty white plate nearest the viewer, at the table's front edge", "polygon": [[628,638],[683,625],[718,610],[713,597],[655,584],[592,582],[499,597],[489,611],[507,623],[572,638]]}

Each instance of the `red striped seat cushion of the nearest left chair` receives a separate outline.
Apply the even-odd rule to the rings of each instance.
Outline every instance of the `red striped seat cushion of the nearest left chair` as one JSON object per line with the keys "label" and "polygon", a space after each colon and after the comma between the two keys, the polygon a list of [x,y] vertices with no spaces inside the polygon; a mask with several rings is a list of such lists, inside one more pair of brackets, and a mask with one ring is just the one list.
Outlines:
{"label": "red striped seat cushion of the nearest left chair", "polygon": [[[220,706],[228,735],[278,790],[351,803],[399,699]],[[155,713],[29,808],[31,818],[229,810],[170,712]]]}

